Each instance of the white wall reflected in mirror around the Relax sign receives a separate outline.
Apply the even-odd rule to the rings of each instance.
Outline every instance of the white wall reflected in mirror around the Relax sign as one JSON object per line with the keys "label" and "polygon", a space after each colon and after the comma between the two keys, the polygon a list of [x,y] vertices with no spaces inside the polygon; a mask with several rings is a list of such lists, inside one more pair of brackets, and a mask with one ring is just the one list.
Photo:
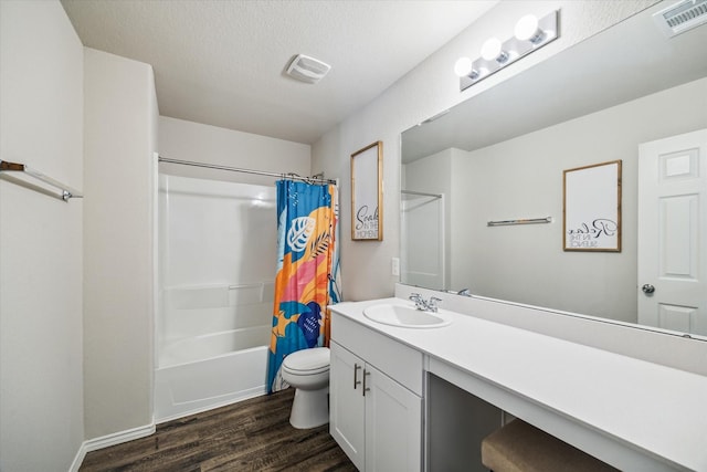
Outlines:
{"label": "white wall reflected in mirror around the Relax sign", "polygon": [[[705,127],[707,78],[701,78],[458,158],[453,178],[460,204],[452,220],[460,243],[452,252],[468,263],[456,266],[452,280],[485,296],[635,323],[639,145]],[[616,159],[622,160],[622,251],[563,252],[562,170]],[[547,216],[555,222],[486,225]]]}

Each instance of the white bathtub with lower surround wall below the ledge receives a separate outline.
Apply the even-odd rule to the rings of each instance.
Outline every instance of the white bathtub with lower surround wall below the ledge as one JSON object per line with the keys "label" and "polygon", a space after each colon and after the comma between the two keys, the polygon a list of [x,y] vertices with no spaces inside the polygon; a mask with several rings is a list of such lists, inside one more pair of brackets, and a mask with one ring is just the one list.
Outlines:
{"label": "white bathtub with lower surround wall below the ledge", "polygon": [[155,420],[265,395],[272,282],[162,291]]}

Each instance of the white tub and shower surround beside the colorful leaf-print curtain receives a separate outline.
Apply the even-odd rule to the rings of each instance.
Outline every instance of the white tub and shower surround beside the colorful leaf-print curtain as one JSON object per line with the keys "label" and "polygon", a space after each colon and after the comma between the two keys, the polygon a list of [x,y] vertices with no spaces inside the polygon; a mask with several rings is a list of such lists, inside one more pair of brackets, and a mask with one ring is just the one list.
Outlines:
{"label": "white tub and shower surround beside the colorful leaf-print curtain", "polygon": [[265,395],[277,229],[271,186],[162,174],[159,181],[162,422]]}

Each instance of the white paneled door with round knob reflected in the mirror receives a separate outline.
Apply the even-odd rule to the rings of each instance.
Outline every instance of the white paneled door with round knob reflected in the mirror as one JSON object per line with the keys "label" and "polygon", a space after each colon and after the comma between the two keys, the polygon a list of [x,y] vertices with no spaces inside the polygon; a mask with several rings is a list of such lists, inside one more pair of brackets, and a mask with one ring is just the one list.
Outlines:
{"label": "white paneled door with round knob reflected in the mirror", "polygon": [[707,129],[639,147],[639,323],[707,335]]}

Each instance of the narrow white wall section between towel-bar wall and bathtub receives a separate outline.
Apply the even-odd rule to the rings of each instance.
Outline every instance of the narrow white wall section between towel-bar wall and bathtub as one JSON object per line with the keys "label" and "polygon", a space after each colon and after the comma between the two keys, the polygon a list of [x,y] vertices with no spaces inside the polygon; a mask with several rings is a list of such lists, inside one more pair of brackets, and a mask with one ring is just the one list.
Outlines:
{"label": "narrow white wall section between towel-bar wall and bathtub", "polygon": [[152,423],[157,101],[151,66],[85,49],[86,438]]}

